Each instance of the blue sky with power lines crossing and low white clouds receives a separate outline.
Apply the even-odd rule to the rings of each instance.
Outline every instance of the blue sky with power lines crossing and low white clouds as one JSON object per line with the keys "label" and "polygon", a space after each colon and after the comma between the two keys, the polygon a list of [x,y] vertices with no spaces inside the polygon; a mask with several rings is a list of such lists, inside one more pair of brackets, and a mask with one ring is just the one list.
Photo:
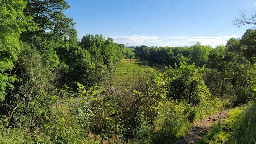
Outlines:
{"label": "blue sky with power lines crossing and low white clouds", "polygon": [[[102,34],[106,38],[111,37],[115,43],[128,43],[129,46],[184,46],[200,41],[201,44],[215,47],[226,44],[230,37],[241,37],[247,28],[253,27],[237,28],[230,23],[235,17],[239,17],[239,10],[256,10],[256,0],[176,0],[175,3],[175,0],[153,1],[67,0],[71,8],[65,13],[74,19],[79,39],[86,34]],[[151,5],[151,11],[141,30]]]}

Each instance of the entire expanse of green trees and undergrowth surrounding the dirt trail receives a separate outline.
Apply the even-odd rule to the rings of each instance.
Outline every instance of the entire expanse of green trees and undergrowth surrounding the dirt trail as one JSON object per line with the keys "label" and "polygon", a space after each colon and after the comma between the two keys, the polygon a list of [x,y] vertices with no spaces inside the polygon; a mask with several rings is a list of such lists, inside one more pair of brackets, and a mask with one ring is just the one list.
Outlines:
{"label": "entire expanse of green trees and undergrowth surrounding the dirt trail", "polygon": [[[255,29],[216,47],[132,49],[102,35],[78,40],[69,7],[0,0],[0,143],[177,143],[225,109],[230,118],[199,142],[256,143]],[[158,68],[135,80],[127,70],[123,81],[123,58]]]}

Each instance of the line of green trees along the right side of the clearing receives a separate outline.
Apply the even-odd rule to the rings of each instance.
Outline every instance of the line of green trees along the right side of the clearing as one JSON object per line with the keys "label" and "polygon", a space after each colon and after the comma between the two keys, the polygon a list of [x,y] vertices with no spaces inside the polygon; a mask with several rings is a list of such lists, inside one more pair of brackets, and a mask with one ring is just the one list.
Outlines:
{"label": "line of green trees along the right side of the clearing", "polygon": [[256,30],[247,29],[242,38],[230,38],[227,44],[201,45],[197,42],[190,47],[136,47],[137,57],[175,68],[180,62],[204,67],[204,83],[211,93],[220,98],[228,98],[238,105],[252,97],[255,71]]}

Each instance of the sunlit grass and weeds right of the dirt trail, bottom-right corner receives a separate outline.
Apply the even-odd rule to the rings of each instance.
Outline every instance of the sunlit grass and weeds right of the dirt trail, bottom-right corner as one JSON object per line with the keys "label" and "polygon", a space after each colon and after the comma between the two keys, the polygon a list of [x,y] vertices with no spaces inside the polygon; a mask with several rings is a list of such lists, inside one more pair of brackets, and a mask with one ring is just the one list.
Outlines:
{"label": "sunlit grass and weeds right of the dirt trail, bottom-right corner", "polygon": [[225,123],[214,124],[199,143],[255,143],[255,102],[232,109]]}

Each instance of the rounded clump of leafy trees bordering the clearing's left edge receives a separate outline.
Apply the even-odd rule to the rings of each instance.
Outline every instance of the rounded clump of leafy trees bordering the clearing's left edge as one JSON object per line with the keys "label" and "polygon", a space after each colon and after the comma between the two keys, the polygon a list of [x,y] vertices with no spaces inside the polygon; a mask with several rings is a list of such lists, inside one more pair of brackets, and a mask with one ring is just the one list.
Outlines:
{"label": "rounded clump of leafy trees bordering the clearing's left edge", "polygon": [[[89,53],[93,67],[91,69],[90,79],[94,83],[96,82],[96,84],[106,78],[108,74],[111,74],[116,64],[122,58],[121,48],[117,44],[114,44],[113,40],[109,37],[105,39],[102,35],[93,36],[87,34],[82,38],[79,45],[83,51]],[[87,64],[87,66],[89,65]],[[86,81],[80,82],[86,83]]]}

